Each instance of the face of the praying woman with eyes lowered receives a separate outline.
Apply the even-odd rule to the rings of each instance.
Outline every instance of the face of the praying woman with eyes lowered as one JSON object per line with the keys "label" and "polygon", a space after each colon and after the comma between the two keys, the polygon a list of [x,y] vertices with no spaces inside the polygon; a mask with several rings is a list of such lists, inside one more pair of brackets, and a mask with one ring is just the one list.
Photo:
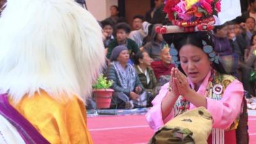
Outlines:
{"label": "face of the praying woman with eyes lowered", "polygon": [[191,81],[200,86],[211,70],[211,61],[202,49],[184,45],[179,51],[180,65]]}

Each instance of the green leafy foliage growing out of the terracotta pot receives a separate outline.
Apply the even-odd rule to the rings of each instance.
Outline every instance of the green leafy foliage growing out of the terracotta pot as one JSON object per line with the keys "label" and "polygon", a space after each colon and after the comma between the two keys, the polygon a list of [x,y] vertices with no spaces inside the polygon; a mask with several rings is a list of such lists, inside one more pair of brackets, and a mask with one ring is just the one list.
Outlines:
{"label": "green leafy foliage growing out of the terracotta pot", "polygon": [[113,81],[108,80],[107,77],[104,77],[103,74],[100,74],[100,76],[97,79],[97,82],[93,84],[92,88],[94,89],[108,89],[110,86],[112,86]]}

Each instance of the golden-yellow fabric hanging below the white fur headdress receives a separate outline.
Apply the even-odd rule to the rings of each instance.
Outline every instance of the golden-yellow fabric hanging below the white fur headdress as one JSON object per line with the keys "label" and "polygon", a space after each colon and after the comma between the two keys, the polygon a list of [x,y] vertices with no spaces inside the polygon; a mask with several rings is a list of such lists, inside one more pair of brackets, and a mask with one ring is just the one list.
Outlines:
{"label": "golden-yellow fabric hanging below the white fur headdress", "polygon": [[58,102],[41,92],[24,96],[18,104],[10,99],[10,103],[52,144],[93,143],[86,126],[86,109],[76,96]]}

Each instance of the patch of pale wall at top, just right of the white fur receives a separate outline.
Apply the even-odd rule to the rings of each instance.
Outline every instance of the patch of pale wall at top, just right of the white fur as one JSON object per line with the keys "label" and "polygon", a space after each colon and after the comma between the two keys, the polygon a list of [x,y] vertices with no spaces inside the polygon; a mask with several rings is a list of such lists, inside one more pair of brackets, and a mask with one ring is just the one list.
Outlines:
{"label": "patch of pale wall at top, just right of the white fur", "polygon": [[89,12],[97,20],[104,20],[109,17],[109,7],[111,5],[117,5],[118,0],[86,0],[86,5]]}

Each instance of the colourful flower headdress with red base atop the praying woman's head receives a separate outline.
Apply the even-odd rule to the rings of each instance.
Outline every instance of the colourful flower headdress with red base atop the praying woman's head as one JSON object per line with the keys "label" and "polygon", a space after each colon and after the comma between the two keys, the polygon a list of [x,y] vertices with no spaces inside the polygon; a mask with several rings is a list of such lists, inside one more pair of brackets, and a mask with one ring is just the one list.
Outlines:
{"label": "colourful flower headdress with red base atop the praying woman's head", "polygon": [[[164,12],[175,26],[157,28],[158,33],[212,30],[214,15],[221,10],[221,0],[167,0]],[[171,32],[170,32],[171,33]],[[173,32],[172,32],[173,33]]]}

